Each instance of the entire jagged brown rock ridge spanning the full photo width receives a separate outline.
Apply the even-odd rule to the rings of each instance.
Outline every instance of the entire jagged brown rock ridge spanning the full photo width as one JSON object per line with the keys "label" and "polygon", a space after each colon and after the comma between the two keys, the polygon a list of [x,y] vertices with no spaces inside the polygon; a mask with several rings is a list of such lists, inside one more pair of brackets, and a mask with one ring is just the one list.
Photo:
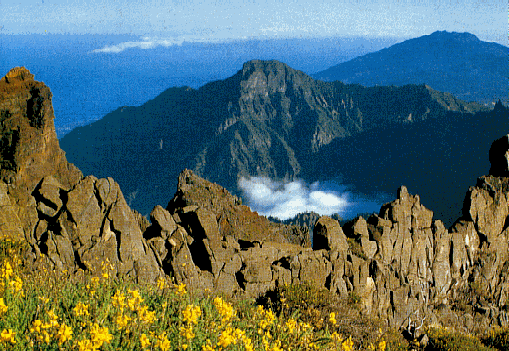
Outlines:
{"label": "entire jagged brown rock ridge spanning the full photo width", "polygon": [[[20,77],[17,86],[8,86],[12,77]],[[0,106],[28,105],[33,85],[47,89],[24,69],[0,83]],[[51,96],[38,104],[46,109],[2,109],[9,116],[2,126],[11,124],[1,140],[12,140],[17,131],[16,140],[25,142],[8,144],[0,160],[1,174],[10,174],[0,187],[0,231],[28,241],[26,264],[49,264],[74,275],[98,274],[110,262],[116,276],[139,282],[171,275],[196,293],[247,297],[311,282],[340,296],[355,294],[364,313],[410,331],[415,321],[467,330],[509,323],[509,136],[493,143],[490,174],[469,189],[463,215],[451,229],[402,186],[396,200],[367,219],[341,227],[321,217],[309,247],[304,229],[270,223],[188,170],[167,208],[156,206],[148,222],[129,208],[113,179],[83,178],[65,161],[52,141]],[[46,126],[46,134],[31,129],[37,126]],[[55,160],[43,155],[37,156],[40,168],[30,162],[4,166],[22,164],[50,145],[46,155],[59,155],[55,168],[46,166]],[[23,175],[30,167],[32,178]],[[25,207],[33,221],[20,217]]]}

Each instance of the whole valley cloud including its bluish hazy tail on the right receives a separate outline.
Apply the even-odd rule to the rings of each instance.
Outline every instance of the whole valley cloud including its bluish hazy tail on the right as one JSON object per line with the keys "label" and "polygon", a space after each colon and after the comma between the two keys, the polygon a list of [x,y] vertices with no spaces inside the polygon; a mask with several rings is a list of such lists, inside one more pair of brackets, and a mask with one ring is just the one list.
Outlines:
{"label": "whole valley cloud including its bluish hazy tail on the right", "polygon": [[245,204],[253,211],[281,220],[305,212],[337,213],[350,219],[359,213],[378,212],[382,204],[391,200],[388,194],[355,194],[347,186],[333,182],[307,184],[303,180],[281,182],[267,177],[242,177],[238,186]]}

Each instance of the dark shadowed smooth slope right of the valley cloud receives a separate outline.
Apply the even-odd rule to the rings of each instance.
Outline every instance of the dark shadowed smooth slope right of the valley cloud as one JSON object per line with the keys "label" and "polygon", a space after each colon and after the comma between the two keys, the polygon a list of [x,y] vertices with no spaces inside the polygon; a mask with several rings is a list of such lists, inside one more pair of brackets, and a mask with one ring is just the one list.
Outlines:
{"label": "dark shadowed smooth slope right of the valley cloud", "polygon": [[509,110],[451,114],[376,128],[336,139],[306,166],[318,179],[338,177],[360,193],[392,192],[401,185],[446,225],[461,216],[465,192],[490,169],[490,140],[509,132]]}

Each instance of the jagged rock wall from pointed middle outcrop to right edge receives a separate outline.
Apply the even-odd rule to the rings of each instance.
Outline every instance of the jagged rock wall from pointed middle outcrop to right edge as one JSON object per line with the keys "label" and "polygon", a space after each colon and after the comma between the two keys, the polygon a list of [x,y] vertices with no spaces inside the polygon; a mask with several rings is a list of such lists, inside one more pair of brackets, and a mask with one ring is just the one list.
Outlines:
{"label": "jagged rock wall from pointed middle outcrop to right edge", "polygon": [[[156,235],[149,241],[161,249],[167,273],[200,289],[258,296],[278,284],[309,281],[341,296],[355,293],[366,313],[395,327],[424,319],[466,329],[507,325],[501,307],[509,305],[508,179],[479,178],[450,229],[402,186],[396,200],[367,220],[342,228],[320,218],[310,249],[222,229],[225,206],[210,189],[227,193],[185,171],[168,210],[154,209]],[[234,212],[239,200],[226,198]]]}

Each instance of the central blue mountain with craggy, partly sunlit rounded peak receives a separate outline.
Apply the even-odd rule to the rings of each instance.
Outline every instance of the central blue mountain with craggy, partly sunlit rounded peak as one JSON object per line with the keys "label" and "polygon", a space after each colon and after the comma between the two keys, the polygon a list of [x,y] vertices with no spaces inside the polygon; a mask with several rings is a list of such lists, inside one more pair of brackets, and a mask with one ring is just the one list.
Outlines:
{"label": "central blue mountain with craggy, partly sunlit rounded peak", "polygon": [[85,174],[113,176],[146,214],[172,197],[184,168],[234,191],[241,176],[313,180],[316,155],[335,139],[480,110],[425,85],[322,82],[255,60],[198,90],[171,88],[143,106],[120,108],[60,142]]}

